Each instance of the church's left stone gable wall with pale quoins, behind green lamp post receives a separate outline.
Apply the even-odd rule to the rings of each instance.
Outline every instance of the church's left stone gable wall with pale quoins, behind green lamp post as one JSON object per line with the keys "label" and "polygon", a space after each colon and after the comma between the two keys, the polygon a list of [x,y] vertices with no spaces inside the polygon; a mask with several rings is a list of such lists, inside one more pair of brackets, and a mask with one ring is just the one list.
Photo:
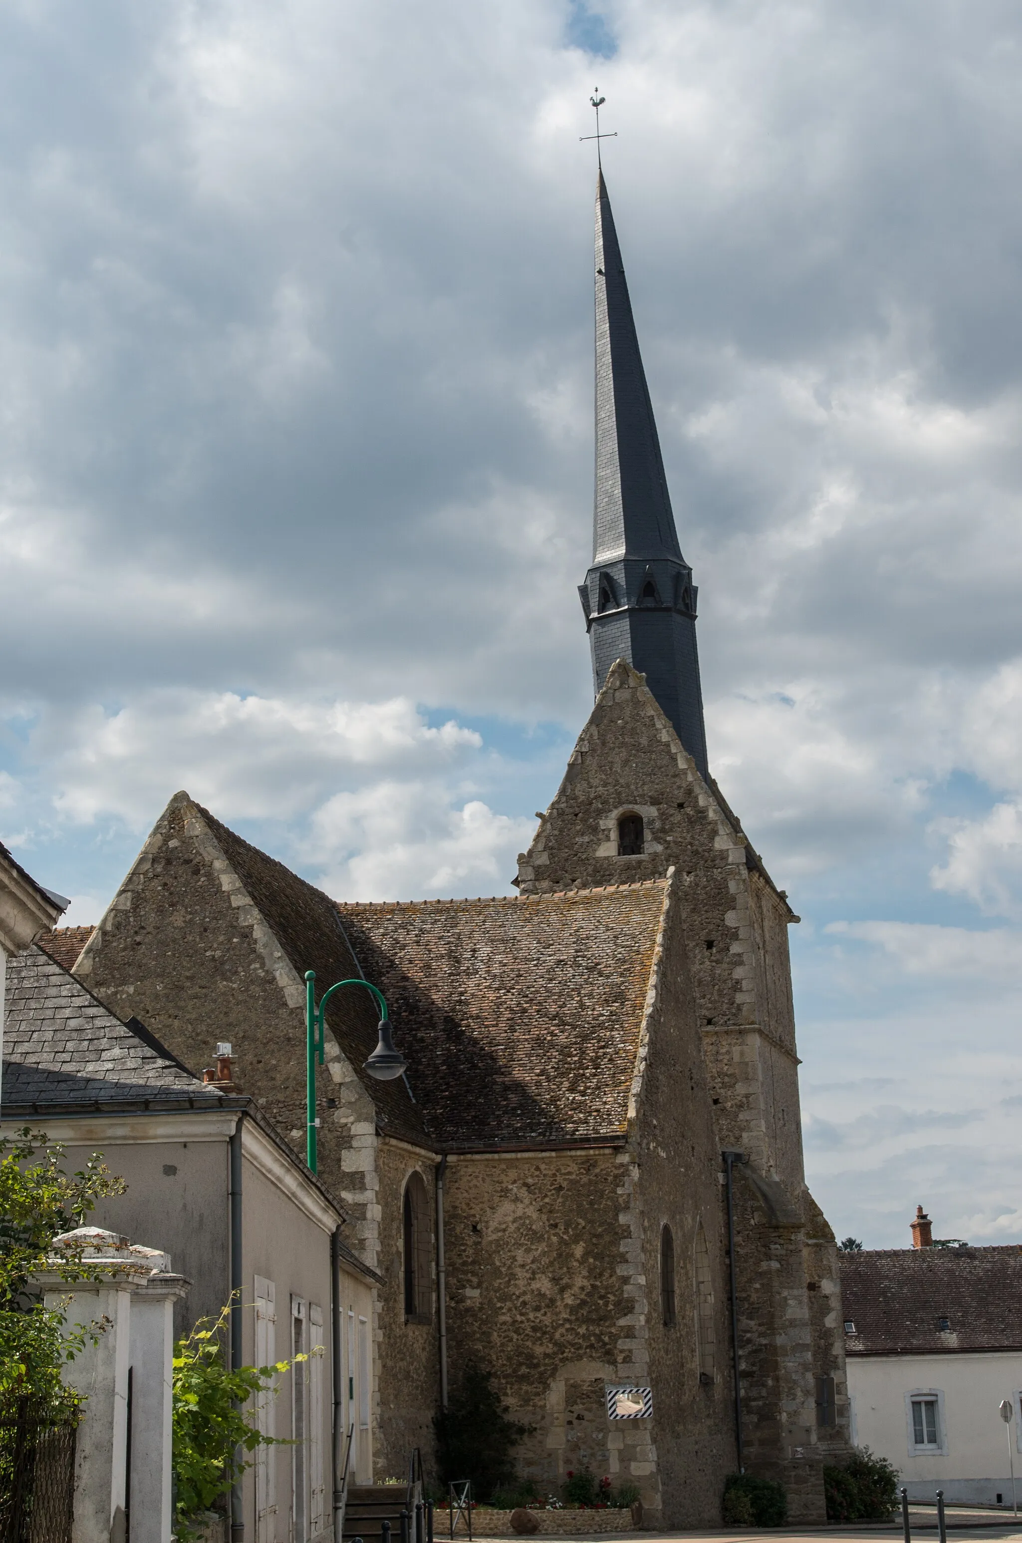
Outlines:
{"label": "church's left stone gable wall with pale quoins, behind green lamp post", "polygon": [[[228,1040],[239,1088],[259,1100],[304,1156],[304,983],[187,796],[173,798],[156,822],[76,974],[122,1018],[137,1017],[196,1072],[210,1065],[216,1042]],[[349,1244],[375,1268],[375,1116],[329,1031],[326,1066],[316,1079],[324,1111],[320,1177],[350,1217]],[[386,1463],[391,1438],[378,1423],[378,1344],[377,1321],[374,1452]]]}

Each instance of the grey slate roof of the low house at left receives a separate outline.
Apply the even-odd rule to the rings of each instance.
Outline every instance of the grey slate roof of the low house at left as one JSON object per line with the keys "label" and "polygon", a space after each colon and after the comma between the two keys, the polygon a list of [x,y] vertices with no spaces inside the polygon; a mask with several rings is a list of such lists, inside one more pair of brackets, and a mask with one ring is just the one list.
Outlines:
{"label": "grey slate roof of the low house at left", "polygon": [[139,1038],[63,966],[32,946],[8,960],[5,1113],[26,1105],[219,1094]]}

